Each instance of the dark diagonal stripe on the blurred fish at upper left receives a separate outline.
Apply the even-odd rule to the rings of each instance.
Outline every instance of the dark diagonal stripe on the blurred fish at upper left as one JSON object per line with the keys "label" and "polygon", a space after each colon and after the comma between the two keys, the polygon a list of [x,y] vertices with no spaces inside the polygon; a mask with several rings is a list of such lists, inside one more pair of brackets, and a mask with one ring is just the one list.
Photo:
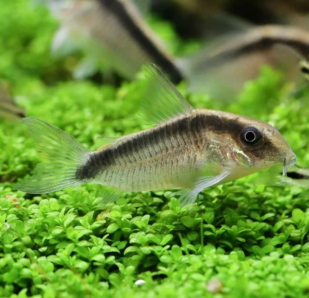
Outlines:
{"label": "dark diagonal stripe on the blurred fish at upper left", "polygon": [[150,57],[153,58],[155,64],[158,64],[162,67],[163,71],[168,73],[171,76],[171,80],[174,84],[178,84],[182,79],[182,73],[176,67],[176,65],[168,59],[162,53],[159,48],[145,35],[143,30],[134,22],[134,19],[126,11],[126,8],[118,0],[99,0],[100,3],[112,12],[117,18],[118,21],[123,25],[130,34],[130,36],[140,44],[141,48],[144,48]]}

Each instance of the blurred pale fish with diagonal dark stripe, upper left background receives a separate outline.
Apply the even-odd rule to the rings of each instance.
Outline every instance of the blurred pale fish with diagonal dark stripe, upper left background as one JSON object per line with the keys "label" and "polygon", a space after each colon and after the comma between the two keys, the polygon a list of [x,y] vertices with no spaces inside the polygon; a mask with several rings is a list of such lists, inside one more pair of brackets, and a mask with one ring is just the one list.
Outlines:
{"label": "blurred pale fish with diagonal dark stripe, upper left background", "polygon": [[68,53],[81,47],[86,53],[75,70],[76,78],[100,70],[116,71],[131,80],[143,63],[153,61],[168,72],[173,81],[182,80],[175,57],[166,51],[142,17],[147,1],[50,0],[48,4],[61,24],[53,40],[53,52]]}

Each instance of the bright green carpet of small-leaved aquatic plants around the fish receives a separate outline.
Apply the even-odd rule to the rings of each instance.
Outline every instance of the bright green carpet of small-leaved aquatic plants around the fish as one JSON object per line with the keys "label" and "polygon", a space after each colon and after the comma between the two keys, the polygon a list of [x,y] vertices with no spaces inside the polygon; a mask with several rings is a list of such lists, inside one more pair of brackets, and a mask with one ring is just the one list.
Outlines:
{"label": "bright green carpet of small-leaved aquatic plants around the fish", "polygon": [[[90,149],[104,144],[98,136],[145,128],[136,115],[141,77],[119,88],[69,80],[64,62],[78,58],[51,56],[57,23],[31,5],[0,0],[0,76],[28,115]],[[298,163],[309,166],[308,89],[291,94],[269,67],[232,103],[179,89],[196,108],[280,125]],[[0,121],[1,297],[307,297],[308,189],[245,178],[206,189],[185,207],[168,191],[127,193],[104,205],[92,184],[25,194],[14,184],[39,161],[35,144],[18,122]]]}

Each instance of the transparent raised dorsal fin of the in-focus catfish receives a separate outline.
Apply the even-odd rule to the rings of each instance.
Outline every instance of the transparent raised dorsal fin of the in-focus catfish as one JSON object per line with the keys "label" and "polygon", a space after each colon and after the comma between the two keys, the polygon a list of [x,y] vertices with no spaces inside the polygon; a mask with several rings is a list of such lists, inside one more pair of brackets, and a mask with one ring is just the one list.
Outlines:
{"label": "transparent raised dorsal fin of the in-focus catfish", "polygon": [[181,115],[190,115],[194,111],[153,63],[145,63],[144,70],[147,83],[141,102],[141,116],[148,124],[156,125]]}

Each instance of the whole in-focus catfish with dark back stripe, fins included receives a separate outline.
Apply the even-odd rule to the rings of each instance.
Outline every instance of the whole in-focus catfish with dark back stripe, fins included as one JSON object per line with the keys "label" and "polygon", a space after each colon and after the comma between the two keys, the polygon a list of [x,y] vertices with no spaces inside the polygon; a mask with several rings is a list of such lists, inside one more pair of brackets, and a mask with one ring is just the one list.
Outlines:
{"label": "whole in-focus catfish with dark back stripe, fins included", "polygon": [[204,188],[276,164],[295,164],[283,136],[265,122],[241,115],[194,109],[153,64],[146,64],[148,93],[142,105],[154,127],[125,135],[91,152],[37,118],[23,123],[46,161],[17,189],[48,193],[87,182],[104,185],[105,201],[122,191],[177,189],[182,205]]}

